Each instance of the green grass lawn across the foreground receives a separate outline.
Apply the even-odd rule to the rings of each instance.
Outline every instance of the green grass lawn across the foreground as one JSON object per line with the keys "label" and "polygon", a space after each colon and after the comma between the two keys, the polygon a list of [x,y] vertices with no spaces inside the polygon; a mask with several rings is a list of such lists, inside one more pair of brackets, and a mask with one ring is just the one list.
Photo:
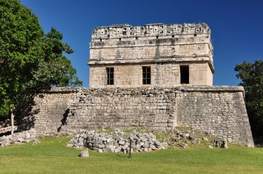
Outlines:
{"label": "green grass lawn across the foreground", "polygon": [[40,144],[0,148],[0,173],[263,173],[263,148],[230,144],[228,149],[205,145],[136,153],[66,148],[70,137],[41,139]]}

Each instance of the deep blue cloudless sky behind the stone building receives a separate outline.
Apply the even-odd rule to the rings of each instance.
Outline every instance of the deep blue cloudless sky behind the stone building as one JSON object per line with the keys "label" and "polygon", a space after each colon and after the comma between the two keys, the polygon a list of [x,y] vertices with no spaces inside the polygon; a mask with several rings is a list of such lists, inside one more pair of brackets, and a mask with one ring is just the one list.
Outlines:
{"label": "deep blue cloudless sky behind the stone building", "polygon": [[214,85],[239,84],[234,67],[263,59],[263,0],[89,1],[21,0],[39,17],[45,32],[56,28],[75,50],[69,55],[89,87],[89,42],[97,26],[129,23],[208,23],[214,47]]}

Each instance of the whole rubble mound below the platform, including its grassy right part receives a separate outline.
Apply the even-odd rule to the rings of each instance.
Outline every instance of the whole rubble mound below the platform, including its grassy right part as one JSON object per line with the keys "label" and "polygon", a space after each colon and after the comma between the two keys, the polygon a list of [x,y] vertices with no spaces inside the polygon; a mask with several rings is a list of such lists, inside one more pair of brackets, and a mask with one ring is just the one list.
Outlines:
{"label": "whole rubble mound below the platform, including its grassy right part", "polygon": [[[129,153],[129,151],[140,153],[158,151],[169,146],[171,148],[187,148],[197,144],[205,144],[210,148],[213,146],[227,148],[225,139],[218,139],[203,131],[188,128],[175,128],[172,133],[157,133],[158,138],[155,134],[136,130],[121,130],[120,128],[87,131],[75,135],[66,146],[89,148],[100,153]],[[219,146],[220,143],[221,146]]]}

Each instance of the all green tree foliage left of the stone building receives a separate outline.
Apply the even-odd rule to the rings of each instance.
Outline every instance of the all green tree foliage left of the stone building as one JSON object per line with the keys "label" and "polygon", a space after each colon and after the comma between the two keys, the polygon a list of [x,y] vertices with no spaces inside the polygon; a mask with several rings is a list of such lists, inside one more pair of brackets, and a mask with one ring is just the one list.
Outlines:
{"label": "all green tree foliage left of the stone building", "polygon": [[64,54],[62,34],[44,34],[37,16],[19,0],[0,0],[0,118],[27,104],[30,95],[51,86],[80,86]]}

